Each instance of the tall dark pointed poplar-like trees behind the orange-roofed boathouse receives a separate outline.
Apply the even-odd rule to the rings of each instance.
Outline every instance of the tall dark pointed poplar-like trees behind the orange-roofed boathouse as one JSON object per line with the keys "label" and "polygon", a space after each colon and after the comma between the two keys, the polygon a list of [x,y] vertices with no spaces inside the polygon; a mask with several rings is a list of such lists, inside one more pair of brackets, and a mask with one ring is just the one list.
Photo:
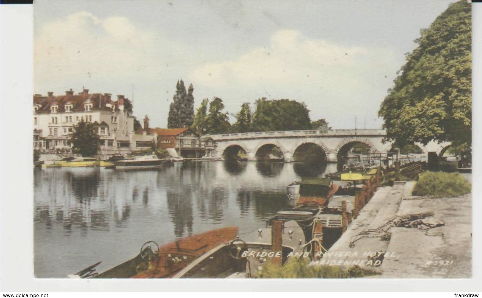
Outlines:
{"label": "tall dark pointed poplar-like trees behind the orange-roofed boathouse", "polygon": [[169,106],[169,116],[167,118],[168,128],[190,127],[194,121],[194,88],[189,85],[188,90],[184,86],[184,81],[177,81],[176,93],[173,102]]}

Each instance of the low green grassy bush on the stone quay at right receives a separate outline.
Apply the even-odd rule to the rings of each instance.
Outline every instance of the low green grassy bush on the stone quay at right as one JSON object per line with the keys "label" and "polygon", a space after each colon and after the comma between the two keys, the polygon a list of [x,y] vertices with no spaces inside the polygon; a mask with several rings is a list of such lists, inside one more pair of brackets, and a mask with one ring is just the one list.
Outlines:
{"label": "low green grassy bush on the stone quay at right", "polygon": [[414,195],[454,197],[469,194],[472,186],[459,173],[425,172],[420,174]]}

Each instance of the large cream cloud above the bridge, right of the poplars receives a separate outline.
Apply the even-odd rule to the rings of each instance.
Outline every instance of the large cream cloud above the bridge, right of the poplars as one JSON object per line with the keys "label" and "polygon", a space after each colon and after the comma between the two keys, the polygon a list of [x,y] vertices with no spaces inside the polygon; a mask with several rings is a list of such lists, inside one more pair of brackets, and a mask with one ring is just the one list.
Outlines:
{"label": "large cream cloud above the bridge, right of the poplars", "polygon": [[281,30],[267,46],[230,61],[198,65],[189,77],[218,94],[242,91],[235,104],[227,104],[231,110],[266,96],[304,101],[313,119],[331,116],[336,122],[337,115],[349,111],[372,121],[392,84],[393,65],[400,64],[388,48],[341,45]]}

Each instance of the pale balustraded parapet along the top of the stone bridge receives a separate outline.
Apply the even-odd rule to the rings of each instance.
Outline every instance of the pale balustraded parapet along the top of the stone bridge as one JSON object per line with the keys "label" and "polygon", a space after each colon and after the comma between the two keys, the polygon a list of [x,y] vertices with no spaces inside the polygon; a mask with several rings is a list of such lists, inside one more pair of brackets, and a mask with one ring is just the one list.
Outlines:
{"label": "pale balustraded parapet along the top of the stone bridge", "polygon": [[281,130],[213,134],[214,141],[302,136],[385,136],[385,130]]}

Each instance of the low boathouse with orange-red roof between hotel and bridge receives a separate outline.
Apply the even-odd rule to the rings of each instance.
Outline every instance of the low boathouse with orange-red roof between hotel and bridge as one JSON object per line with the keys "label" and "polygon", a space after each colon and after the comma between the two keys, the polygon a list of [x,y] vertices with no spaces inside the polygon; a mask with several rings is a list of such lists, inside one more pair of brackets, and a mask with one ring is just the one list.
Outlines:
{"label": "low boathouse with orange-red roof between hotel and bridge", "polygon": [[[199,134],[190,128],[150,129],[157,135],[157,147],[180,157],[202,157],[206,148],[201,145]],[[173,151],[174,150],[174,151]]]}

